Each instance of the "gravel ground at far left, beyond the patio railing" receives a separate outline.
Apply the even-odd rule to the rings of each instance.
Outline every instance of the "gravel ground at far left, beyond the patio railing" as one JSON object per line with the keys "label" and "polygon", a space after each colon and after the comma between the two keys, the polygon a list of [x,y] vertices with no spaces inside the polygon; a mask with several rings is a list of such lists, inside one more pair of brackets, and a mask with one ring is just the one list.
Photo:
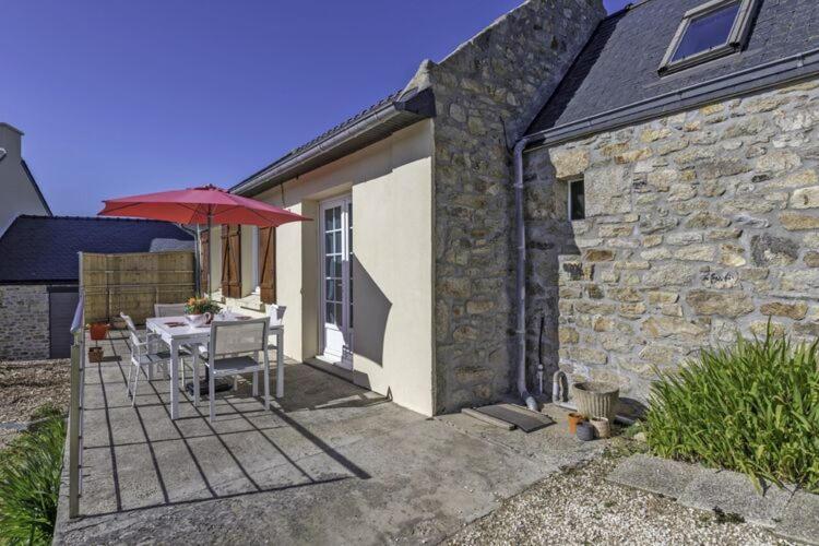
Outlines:
{"label": "gravel ground at far left, beyond the patio railing", "polygon": [[14,430],[9,423],[27,422],[44,404],[68,410],[71,360],[0,361],[0,448]]}

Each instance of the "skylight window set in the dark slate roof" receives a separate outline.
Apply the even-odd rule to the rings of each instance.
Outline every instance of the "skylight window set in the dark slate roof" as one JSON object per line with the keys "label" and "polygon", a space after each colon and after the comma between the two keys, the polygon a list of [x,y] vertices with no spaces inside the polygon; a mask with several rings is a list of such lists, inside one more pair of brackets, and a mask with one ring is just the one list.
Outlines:
{"label": "skylight window set in the dark slate roof", "polygon": [[686,12],[660,72],[682,70],[738,51],[748,37],[758,0],[712,0]]}

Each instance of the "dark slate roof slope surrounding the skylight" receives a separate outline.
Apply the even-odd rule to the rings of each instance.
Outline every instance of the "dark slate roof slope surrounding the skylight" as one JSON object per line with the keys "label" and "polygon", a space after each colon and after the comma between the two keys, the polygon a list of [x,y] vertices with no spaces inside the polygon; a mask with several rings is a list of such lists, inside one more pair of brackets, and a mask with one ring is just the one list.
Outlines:
{"label": "dark slate roof slope surrounding the skylight", "polygon": [[817,0],[760,0],[740,52],[661,78],[657,69],[682,15],[703,3],[646,0],[604,20],[529,132],[573,123],[819,47]]}

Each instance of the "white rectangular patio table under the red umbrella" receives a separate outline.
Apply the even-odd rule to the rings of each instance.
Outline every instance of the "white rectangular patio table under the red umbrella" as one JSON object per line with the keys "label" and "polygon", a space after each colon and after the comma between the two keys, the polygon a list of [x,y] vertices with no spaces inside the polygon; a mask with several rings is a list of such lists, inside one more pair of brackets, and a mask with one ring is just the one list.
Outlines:
{"label": "white rectangular patio table under the red umbrella", "polygon": [[[239,319],[239,316],[235,317]],[[206,346],[211,327],[192,327],[185,317],[156,317],[146,319],[145,328],[170,347],[170,418],[176,419],[179,417],[179,347]],[[284,396],[284,327],[270,327],[270,333],[276,335],[276,397],[281,399]]]}

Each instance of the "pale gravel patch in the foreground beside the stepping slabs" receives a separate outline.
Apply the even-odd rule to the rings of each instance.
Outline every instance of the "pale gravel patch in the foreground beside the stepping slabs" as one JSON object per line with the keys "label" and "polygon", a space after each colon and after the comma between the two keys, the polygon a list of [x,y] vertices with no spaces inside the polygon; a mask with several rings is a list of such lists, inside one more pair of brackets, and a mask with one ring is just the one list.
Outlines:
{"label": "pale gravel patch in the foreground beside the stepping slabs", "polygon": [[446,544],[792,544],[760,526],[605,482],[634,444],[622,440],[584,467],[549,476]]}

